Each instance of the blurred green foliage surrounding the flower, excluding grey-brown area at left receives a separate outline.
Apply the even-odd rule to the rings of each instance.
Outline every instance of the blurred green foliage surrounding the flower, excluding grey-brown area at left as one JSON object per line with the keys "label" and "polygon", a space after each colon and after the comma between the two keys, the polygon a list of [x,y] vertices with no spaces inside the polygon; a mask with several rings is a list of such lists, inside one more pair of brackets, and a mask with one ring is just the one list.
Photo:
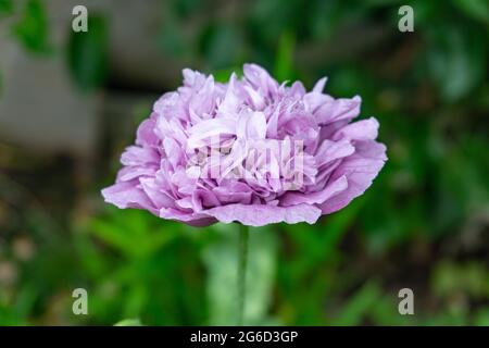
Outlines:
{"label": "blurred green foliage surrounding the flower, excluding grey-brown area at left", "polygon": [[[39,3],[27,1],[16,24],[27,48],[48,41]],[[362,96],[389,156],[372,189],[341,212],[313,226],[252,231],[247,323],[488,325],[489,2],[229,3],[225,16],[213,1],[166,1],[151,39],[217,80],[246,61],[306,87],[327,75],[333,96]],[[414,8],[415,33],[397,30],[402,4]],[[11,11],[0,1],[0,13]],[[101,18],[70,41],[80,86],[103,85],[106,25]],[[1,324],[234,324],[235,227],[197,229],[104,207],[99,189],[120,151],[111,148],[110,175],[88,187],[95,208],[77,211],[63,196],[61,223],[42,204],[25,206],[28,190],[0,176]],[[22,243],[34,249],[28,258]],[[76,287],[88,289],[87,316],[71,312]],[[403,287],[414,290],[413,316],[398,312]]]}

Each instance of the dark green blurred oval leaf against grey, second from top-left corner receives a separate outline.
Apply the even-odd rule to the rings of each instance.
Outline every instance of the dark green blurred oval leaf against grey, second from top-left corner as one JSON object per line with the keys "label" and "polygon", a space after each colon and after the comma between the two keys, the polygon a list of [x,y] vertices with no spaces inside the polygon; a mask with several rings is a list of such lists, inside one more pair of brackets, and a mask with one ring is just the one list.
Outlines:
{"label": "dark green blurred oval leaf against grey, second from top-left corner", "polygon": [[70,28],[67,62],[76,85],[85,91],[100,87],[108,75],[108,29],[105,18],[90,13],[88,32]]}

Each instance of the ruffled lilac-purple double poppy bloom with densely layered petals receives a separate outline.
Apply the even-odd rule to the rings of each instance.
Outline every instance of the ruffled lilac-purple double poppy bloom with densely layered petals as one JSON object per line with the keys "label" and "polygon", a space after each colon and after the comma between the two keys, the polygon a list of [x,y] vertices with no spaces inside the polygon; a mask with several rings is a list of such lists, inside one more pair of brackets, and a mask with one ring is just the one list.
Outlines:
{"label": "ruffled lilac-purple double poppy bloom with densely layered petals", "polygon": [[184,70],[121,157],[116,184],[102,190],[118,208],[146,209],[190,225],[315,223],[362,195],[383,167],[378,122],[352,122],[360,97],[279,85],[254,64],[243,78],[214,82]]}

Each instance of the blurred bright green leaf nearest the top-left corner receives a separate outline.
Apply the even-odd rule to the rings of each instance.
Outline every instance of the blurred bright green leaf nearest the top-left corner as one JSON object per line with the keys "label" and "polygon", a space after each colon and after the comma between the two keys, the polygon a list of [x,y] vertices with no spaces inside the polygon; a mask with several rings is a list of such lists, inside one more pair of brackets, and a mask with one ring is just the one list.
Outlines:
{"label": "blurred bright green leaf nearest the top-left corner", "polygon": [[40,0],[27,0],[21,20],[12,29],[27,50],[38,53],[48,51],[48,20]]}

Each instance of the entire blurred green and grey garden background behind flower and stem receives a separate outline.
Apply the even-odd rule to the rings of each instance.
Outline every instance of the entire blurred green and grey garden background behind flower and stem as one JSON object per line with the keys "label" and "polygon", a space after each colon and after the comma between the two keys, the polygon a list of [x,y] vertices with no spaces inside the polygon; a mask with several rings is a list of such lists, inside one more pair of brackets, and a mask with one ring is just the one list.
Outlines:
{"label": "entire blurred green and grey garden background behind flower and stem", "polygon": [[488,34],[486,0],[0,0],[0,324],[235,323],[235,226],[116,210],[100,189],[183,67],[255,62],[361,95],[389,161],[316,225],[252,231],[247,323],[489,325]]}

